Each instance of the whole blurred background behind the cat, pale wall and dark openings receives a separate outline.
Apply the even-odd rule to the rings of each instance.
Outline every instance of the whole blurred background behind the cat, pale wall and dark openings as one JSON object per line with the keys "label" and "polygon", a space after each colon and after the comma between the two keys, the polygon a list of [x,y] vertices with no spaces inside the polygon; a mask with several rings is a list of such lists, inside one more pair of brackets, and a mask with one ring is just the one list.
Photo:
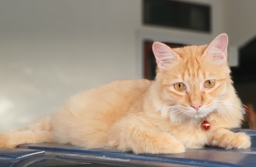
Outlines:
{"label": "whole blurred background behind the cat, pale wall and dark openings", "polygon": [[0,130],[55,113],[79,91],[152,79],[153,41],[201,45],[220,33],[229,37],[238,94],[253,108],[255,6],[254,0],[0,0]]}

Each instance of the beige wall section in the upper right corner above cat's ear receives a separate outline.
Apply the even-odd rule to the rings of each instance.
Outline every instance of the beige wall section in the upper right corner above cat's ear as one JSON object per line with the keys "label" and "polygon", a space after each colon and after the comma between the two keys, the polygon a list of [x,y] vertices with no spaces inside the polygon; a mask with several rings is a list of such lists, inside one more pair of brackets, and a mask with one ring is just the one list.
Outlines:
{"label": "beige wall section in the upper right corner above cat's ear", "polygon": [[224,30],[229,44],[241,47],[256,36],[255,0],[223,0]]}

